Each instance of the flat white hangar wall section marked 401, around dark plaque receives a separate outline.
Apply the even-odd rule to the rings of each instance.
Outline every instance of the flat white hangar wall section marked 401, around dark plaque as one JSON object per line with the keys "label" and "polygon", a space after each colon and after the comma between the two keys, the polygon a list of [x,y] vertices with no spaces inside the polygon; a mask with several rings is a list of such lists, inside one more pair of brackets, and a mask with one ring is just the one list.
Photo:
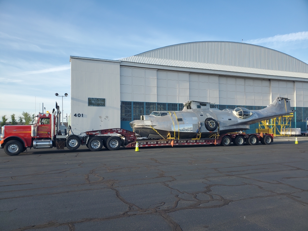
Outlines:
{"label": "flat white hangar wall section marked 401, around dark plaque", "polygon": [[[105,107],[88,106],[88,98],[105,99]],[[119,61],[71,57],[71,128],[76,135],[120,128]]]}

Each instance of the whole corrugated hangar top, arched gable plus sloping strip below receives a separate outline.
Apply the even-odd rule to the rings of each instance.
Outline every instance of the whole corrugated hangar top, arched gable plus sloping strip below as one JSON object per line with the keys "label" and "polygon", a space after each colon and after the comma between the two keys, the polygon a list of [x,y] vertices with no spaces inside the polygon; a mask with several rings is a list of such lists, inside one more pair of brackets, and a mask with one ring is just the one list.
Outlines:
{"label": "whole corrugated hangar top, arched gable plus sloping strip below", "polygon": [[282,52],[247,43],[182,43],[120,61],[308,79],[308,64]]}

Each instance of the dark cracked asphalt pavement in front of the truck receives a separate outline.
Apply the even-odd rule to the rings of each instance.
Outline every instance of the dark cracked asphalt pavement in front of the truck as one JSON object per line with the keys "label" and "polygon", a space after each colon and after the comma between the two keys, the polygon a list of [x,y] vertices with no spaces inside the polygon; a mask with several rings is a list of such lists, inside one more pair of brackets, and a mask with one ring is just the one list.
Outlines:
{"label": "dark cracked asphalt pavement in front of the truck", "polygon": [[0,230],[308,230],[308,137],[294,141],[1,149]]}

